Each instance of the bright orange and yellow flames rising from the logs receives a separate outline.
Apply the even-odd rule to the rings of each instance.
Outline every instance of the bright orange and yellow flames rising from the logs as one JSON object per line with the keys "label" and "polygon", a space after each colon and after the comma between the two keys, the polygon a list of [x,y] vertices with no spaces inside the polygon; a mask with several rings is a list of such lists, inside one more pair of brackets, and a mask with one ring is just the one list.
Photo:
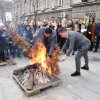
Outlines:
{"label": "bright orange and yellow flames rising from the logs", "polygon": [[46,48],[43,43],[38,43],[37,46],[32,48],[32,59],[31,64],[41,64],[43,73],[48,72],[52,74],[51,68],[47,65]]}

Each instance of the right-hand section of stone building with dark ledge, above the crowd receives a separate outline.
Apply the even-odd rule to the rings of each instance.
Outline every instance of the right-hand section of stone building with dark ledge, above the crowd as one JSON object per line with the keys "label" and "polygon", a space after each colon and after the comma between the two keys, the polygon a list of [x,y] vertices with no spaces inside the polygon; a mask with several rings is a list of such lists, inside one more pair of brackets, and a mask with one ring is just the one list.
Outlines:
{"label": "right-hand section of stone building with dark ledge, above the crowd", "polygon": [[83,16],[94,16],[97,22],[100,20],[100,0],[72,0],[71,6],[73,20]]}

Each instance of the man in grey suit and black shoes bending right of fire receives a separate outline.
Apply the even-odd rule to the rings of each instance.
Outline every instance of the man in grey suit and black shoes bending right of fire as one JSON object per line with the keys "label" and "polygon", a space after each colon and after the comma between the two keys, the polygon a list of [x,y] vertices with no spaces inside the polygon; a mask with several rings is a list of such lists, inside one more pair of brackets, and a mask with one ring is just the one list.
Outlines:
{"label": "man in grey suit and black shoes bending right of fire", "polygon": [[66,57],[70,55],[70,53],[74,50],[74,47],[78,50],[78,53],[75,57],[76,61],[76,71],[71,74],[71,76],[79,76],[80,66],[81,66],[81,57],[83,56],[85,59],[85,66],[82,67],[84,70],[89,70],[88,66],[88,49],[90,48],[90,40],[87,39],[84,35],[80,34],[76,31],[67,31],[65,28],[61,28],[59,30],[59,34],[62,38],[67,37],[67,40],[62,48],[62,51],[65,53],[65,56],[61,59],[61,61],[65,61]]}

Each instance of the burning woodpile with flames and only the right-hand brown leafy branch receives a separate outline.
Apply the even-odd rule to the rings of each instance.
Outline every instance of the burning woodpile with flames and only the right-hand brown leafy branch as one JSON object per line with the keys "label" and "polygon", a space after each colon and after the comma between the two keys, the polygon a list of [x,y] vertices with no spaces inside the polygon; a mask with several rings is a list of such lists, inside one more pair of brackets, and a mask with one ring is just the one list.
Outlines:
{"label": "burning woodpile with flames and only the right-hand brown leafy branch", "polygon": [[34,85],[48,84],[56,80],[59,74],[59,55],[57,47],[50,59],[46,58],[46,49],[42,43],[32,47],[31,65],[15,70],[19,82],[27,89],[32,90]]}

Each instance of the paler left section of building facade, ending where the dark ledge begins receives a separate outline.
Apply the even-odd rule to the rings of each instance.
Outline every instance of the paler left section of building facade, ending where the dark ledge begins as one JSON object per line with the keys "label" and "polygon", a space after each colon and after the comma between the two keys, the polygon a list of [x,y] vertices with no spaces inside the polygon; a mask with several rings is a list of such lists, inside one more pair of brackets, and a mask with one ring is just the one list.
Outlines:
{"label": "paler left section of building facade, ending where the dark ledge begins", "polygon": [[28,20],[34,19],[36,13],[37,20],[51,17],[71,19],[70,3],[70,0],[16,0],[13,3],[13,16],[16,19]]}

